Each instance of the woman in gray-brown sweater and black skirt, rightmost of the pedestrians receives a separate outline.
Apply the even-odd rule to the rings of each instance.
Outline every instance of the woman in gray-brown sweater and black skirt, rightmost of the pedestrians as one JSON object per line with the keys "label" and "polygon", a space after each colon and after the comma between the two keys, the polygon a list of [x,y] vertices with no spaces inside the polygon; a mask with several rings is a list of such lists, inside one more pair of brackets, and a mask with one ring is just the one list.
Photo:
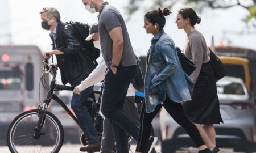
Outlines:
{"label": "woman in gray-brown sweater and black skirt, rightmost of the pedestrians", "polygon": [[[216,147],[216,134],[213,124],[220,124],[220,103],[212,67],[210,66],[210,50],[204,36],[195,29],[194,25],[200,23],[201,18],[192,8],[182,8],[177,14],[178,29],[184,29],[188,35],[184,53],[192,59],[196,70],[190,75],[196,83],[193,88],[192,100],[183,104],[184,111],[199,129],[205,145],[218,152]],[[201,126],[203,124],[204,128]]]}

